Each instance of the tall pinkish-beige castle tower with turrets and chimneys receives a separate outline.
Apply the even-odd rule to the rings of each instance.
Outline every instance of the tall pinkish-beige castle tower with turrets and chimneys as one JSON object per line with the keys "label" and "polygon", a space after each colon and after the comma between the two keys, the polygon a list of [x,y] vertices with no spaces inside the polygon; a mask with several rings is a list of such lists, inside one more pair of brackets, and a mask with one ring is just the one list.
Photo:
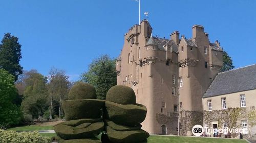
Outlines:
{"label": "tall pinkish-beige castle tower with turrets and chimneys", "polygon": [[202,96],[223,65],[223,51],[199,25],[192,27],[191,39],[180,39],[178,31],[158,38],[152,30],[143,20],[124,35],[117,85],[132,87],[137,103],[147,107],[145,131],[190,135],[194,125],[202,125]]}

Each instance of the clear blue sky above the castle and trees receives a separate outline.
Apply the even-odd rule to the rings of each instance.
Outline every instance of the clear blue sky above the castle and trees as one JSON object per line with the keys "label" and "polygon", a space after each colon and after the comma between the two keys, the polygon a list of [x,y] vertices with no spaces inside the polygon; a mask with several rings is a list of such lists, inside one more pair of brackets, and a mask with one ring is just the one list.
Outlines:
{"label": "clear blue sky above the castle and trees", "polygon": [[[191,38],[191,27],[205,27],[238,67],[256,63],[256,1],[141,0],[141,19],[149,13],[153,35],[169,38],[175,30]],[[119,55],[124,34],[138,23],[135,0],[0,0],[0,38],[19,37],[25,70],[47,75],[66,70],[71,80],[87,71],[101,54]]]}

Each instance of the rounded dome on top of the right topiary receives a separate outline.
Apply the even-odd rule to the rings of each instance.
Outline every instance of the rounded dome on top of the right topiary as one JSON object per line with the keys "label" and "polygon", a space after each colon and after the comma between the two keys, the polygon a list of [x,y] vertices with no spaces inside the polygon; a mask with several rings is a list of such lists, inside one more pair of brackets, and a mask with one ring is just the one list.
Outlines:
{"label": "rounded dome on top of the right topiary", "polygon": [[116,85],[106,93],[106,101],[118,104],[136,104],[136,96],[131,87]]}

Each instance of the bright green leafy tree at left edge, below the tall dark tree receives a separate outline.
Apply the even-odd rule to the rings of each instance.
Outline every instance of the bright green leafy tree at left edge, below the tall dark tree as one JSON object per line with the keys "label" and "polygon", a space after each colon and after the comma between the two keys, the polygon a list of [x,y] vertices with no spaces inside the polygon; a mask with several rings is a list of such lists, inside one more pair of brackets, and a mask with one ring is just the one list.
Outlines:
{"label": "bright green leafy tree at left edge, below the tall dark tree", "polygon": [[14,76],[6,70],[0,69],[0,125],[9,126],[19,123],[22,113],[12,103],[16,95]]}

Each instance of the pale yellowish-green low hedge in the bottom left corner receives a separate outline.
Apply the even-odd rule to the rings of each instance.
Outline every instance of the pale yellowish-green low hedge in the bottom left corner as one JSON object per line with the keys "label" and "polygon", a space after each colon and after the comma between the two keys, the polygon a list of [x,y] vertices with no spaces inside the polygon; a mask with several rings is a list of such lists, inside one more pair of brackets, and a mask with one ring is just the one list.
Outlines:
{"label": "pale yellowish-green low hedge in the bottom left corner", "polygon": [[0,130],[1,143],[50,143],[49,137],[41,136],[38,132],[16,132]]}

